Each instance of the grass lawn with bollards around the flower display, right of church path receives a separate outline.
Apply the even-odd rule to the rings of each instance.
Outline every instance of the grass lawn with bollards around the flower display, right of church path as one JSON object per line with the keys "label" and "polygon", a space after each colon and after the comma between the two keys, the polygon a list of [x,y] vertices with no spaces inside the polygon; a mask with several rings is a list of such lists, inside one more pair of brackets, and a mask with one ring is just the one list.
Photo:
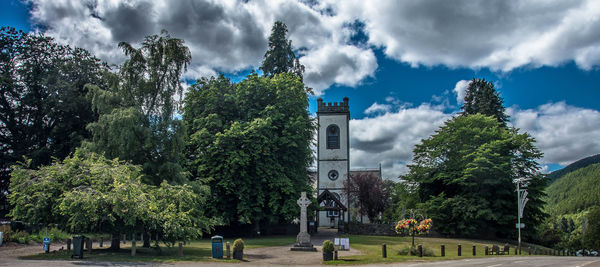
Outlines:
{"label": "grass lawn with bollards around the flower display, right of church path", "polygon": [[[363,255],[339,257],[337,261],[329,261],[326,264],[369,264],[369,263],[392,263],[401,261],[436,261],[436,260],[455,260],[474,257],[502,257],[500,256],[485,256],[485,246],[492,245],[503,246],[499,242],[485,240],[470,240],[470,239],[448,239],[448,238],[429,238],[415,237],[415,246],[423,245],[425,248],[431,249],[434,256],[422,257],[418,256],[402,256],[398,255],[398,251],[405,247],[410,247],[411,237],[400,236],[364,236],[364,235],[349,235],[350,247],[362,251]],[[387,258],[381,256],[381,244],[387,246]],[[445,245],[446,256],[441,256],[441,245]],[[462,246],[462,256],[458,256],[458,244]],[[476,246],[476,256],[473,256],[473,245]],[[514,255],[515,246],[511,245],[510,255]],[[526,246],[522,248],[521,255],[528,255]]]}

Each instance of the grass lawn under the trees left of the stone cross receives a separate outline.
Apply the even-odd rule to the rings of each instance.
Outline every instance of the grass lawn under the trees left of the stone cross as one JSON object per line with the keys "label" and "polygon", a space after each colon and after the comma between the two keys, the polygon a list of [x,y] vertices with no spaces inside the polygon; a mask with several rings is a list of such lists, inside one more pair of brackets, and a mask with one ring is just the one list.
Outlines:
{"label": "grass lawn under the trees left of the stone cross", "polygon": [[[230,242],[233,250],[234,239],[225,239],[223,242]],[[262,238],[244,238],[244,249],[281,246],[292,244],[296,241],[295,236],[269,236]],[[110,243],[105,243],[109,246]],[[154,243],[152,243],[154,245]],[[137,243],[136,255],[131,256],[131,241],[127,244],[121,244],[121,250],[111,251],[105,248],[94,248],[92,254],[85,251],[83,258],[91,261],[149,261],[149,262],[178,262],[178,261],[223,261],[223,262],[238,262],[237,260],[217,260],[211,257],[210,239],[202,239],[192,241],[183,246],[183,257],[177,256],[177,244],[175,247],[166,247],[160,243],[160,249],[141,248],[141,242]],[[225,250],[225,243],[223,250]],[[233,253],[233,251],[232,251]],[[57,251],[55,253],[41,253],[37,255],[21,257],[22,259],[37,259],[37,260],[70,260],[72,252]],[[225,256],[225,253],[224,255]]]}

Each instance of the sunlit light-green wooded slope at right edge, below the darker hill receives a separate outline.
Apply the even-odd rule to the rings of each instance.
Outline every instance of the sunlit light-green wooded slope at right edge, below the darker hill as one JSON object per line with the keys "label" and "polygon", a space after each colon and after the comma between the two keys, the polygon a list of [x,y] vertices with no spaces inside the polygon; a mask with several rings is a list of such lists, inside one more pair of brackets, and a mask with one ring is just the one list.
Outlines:
{"label": "sunlit light-green wooded slope at right edge, below the darker hill", "polygon": [[600,203],[600,164],[567,173],[546,189],[551,216],[578,213]]}

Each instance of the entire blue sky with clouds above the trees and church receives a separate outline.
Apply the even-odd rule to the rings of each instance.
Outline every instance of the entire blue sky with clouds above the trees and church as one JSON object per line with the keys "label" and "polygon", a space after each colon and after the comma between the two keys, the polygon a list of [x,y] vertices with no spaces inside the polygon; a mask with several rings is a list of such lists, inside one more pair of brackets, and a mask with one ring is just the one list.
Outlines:
{"label": "entire blue sky with clouds above the trees and church", "polygon": [[408,171],[456,116],[473,78],[493,82],[544,172],[600,153],[600,1],[4,0],[0,25],[85,48],[109,64],[167,30],[192,53],[183,83],[258,69],[276,20],[316,99],[350,99],[350,164]]}

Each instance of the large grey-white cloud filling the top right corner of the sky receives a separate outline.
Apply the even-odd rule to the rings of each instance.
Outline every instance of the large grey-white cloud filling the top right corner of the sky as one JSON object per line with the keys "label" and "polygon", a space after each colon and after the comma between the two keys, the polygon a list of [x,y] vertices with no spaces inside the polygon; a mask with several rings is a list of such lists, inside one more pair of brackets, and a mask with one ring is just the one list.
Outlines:
{"label": "large grey-white cloud filling the top right corner of the sky", "polygon": [[595,0],[331,0],[323,6],[363,21],[369,44],[412,66],[509,71],[571,60],[583,69],[600,63]]}

